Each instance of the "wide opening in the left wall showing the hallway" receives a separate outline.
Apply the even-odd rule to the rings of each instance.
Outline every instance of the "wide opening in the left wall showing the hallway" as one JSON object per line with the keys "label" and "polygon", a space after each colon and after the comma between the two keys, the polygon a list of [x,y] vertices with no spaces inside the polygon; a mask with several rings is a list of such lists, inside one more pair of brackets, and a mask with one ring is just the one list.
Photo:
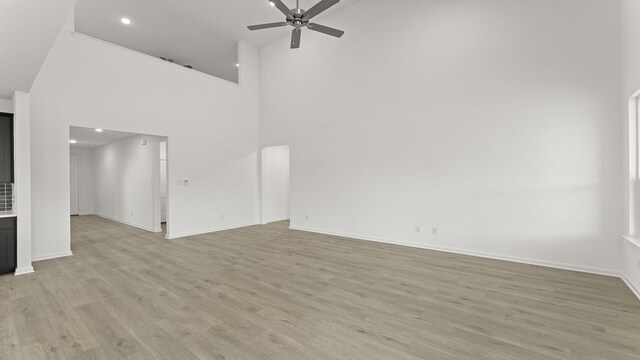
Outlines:
{"label": "wide opening in the left wall showing the hallway", "polygon": [[167,137],[71,126],[69,143],[71,215],[163,232]]}

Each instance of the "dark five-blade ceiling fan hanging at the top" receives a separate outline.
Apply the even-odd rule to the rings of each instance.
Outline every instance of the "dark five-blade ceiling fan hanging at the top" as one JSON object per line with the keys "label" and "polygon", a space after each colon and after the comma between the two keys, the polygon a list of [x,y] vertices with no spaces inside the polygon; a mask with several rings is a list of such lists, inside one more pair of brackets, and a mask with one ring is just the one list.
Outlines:
{"label": "dark five-blade ceiling fan hanging at the top", "polygon": [[263,29],[271,29],[282,26],[293,26],[293,32],[291,34],[291,48],[297,49],[300,47],[300,36],[302,35],[302,28],[307,27],[309,30],[321,32],[323,34],[335,36],[337,38],[342,37],[344,35],[344,31],[330,28],[328,26],[310,23],[309,21],[319,15],[321,12],[327,10],[333,5],[340,2],[340,0],[322,0],[319,3],[315,4],[309,10],[300,9],[300,0],[296,0],[295,9],[289,9],[285,4],[282,3],[281,0],[269,0],[271,6],[275,6],[280,10],[286,17],[286,21],[277,22],[277,23],[269,23],[269,24],[261,24],[261,25],[251,25],[247,26],[249,30],[263,30]]}

